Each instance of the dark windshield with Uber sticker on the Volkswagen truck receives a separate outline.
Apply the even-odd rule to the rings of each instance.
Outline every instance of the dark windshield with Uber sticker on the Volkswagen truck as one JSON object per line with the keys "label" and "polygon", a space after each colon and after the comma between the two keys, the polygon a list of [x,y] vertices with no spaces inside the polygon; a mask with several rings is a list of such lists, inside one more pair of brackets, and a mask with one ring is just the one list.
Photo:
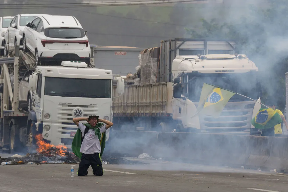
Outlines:
{"label": "dark windshield with Uber sticker on the Volkswagen truck", "polygon": [[45,77],[45,95],[111,98],[111,80]]}

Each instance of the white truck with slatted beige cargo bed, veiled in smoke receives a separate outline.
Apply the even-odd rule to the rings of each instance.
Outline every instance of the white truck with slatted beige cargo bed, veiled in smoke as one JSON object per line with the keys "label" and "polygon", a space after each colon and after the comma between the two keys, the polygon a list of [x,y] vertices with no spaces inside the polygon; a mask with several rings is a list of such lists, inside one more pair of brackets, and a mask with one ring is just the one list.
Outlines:
{"label": "white truck with slatted beige cargo bed, veiled in smoke", "polygon": [[171,71],[173,82],[125,85],[124,95],[113,101],[113,129],[234,134],[254,130],[251,119],[260,104],[239,95],[229,100],[217,119],[206,115],[193,117],[204,82],[260,102],[258,68],[246,55],[176,56]]}

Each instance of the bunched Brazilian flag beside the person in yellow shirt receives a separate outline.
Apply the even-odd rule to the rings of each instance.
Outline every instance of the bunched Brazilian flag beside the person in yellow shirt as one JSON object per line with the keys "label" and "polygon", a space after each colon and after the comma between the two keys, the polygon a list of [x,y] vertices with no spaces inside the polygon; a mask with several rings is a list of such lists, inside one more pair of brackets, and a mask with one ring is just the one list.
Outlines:
{"label": "bunched Brazilian flag beside the person in yellow shirt", "polygon": [[282,122],[280,115],[272,108],[261,108],[252,119],[252,125],[257,129],[269,129]]}

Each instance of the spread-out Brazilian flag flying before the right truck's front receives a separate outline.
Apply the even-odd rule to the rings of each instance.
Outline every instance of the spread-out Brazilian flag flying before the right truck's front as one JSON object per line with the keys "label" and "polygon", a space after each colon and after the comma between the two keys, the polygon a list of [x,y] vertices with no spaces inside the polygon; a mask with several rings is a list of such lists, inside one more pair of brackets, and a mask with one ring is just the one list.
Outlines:
{"label": "spread-out Brazilian flag flying before the right truck's front", "polygon": [[236,93],[204,83],[197,113],[218,118],[230,98]]}

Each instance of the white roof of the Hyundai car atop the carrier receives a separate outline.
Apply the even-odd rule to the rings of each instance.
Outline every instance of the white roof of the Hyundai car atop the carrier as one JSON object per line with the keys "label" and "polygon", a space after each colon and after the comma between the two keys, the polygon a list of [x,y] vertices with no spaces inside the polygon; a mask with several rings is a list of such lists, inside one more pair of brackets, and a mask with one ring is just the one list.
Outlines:
{"label": "white roof of the Hyundai car atop the carrier", "polygon": [[[63,15],[45,15],[43,16],[51,26],[75,26],[82,28],[79,21],[73,16],[63,16]],[[62,23],[63,22],[63,23]]]}

